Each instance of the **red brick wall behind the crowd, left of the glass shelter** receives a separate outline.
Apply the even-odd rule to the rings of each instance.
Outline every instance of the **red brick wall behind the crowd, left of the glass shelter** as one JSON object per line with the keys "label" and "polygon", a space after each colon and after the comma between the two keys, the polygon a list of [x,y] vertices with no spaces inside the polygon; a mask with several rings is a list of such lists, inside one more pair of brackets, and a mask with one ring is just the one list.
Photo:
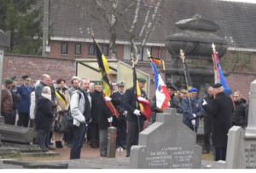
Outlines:
{"label": "red brick wall behind the crowd, left of the glass shelter", "polygon": [[40,79],[42,74],[49,74],[55,80],[66,79],[67,85],[69,85],[70,78],[75,74],[75,62],[74,60],[42,56],[4,55],[3,80],[16,75],[18,84],[21,84],[21,76],[26,74],[32,78],[31,84]]}

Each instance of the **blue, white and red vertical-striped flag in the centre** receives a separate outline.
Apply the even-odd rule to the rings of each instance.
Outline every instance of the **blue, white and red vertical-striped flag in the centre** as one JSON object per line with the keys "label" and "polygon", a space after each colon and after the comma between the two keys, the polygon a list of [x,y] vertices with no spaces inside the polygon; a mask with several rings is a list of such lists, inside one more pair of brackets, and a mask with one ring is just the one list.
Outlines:
{"label": "blue, white and red vertical-striped flag in the centre", "polygon": [[151,61],[151,66],[154,71],[154,84],[155,84],[155,97],[156,97],[156,107],[160,111],[164,111],[164,108],[168,108],[168,101],[171,100],[171,97],[166,89],[166,85],[163,79],[160,76],[160,73],[157,71],[154,62]]}

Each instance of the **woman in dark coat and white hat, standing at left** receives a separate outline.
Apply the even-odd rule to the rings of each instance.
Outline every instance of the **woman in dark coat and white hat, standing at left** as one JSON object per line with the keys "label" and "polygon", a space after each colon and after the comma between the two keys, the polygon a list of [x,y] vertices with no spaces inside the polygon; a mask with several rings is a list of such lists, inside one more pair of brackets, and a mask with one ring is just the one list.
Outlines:
{"label": "woman in dark coat and white hat, standing at left", "polygon": [[52,129],[52,120],[54,118],[54,109],[51,104],[51,91],[49,86],[42,89],[42,96],[37,101],[37,110],[35,117],[36,130],[38,130],[38,143],[40,148],[45,152],[47,149],[44,146],[46,133]]}

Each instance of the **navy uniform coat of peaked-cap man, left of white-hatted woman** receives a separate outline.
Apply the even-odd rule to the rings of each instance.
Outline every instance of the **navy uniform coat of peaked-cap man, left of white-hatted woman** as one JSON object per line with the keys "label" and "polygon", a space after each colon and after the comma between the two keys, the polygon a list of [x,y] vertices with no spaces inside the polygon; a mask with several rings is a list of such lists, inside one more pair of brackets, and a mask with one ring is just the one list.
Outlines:
{"label": "navy uniform coat of peaked-cap man, left of white-hatted woman", "polygon": [[26,86],[25,84],[21,84],[17,88],[17,91],[21,97],[20,102],[19,102],[18,112],[29,113],[30,95],[32,93],[32,86],[30,86],[30,85]]}

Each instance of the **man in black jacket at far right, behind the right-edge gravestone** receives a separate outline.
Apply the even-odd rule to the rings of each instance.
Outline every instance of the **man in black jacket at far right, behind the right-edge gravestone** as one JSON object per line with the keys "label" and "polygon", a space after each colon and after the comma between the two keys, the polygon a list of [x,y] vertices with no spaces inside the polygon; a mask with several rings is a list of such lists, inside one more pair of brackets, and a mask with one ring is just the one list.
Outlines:
{"label": "man in black jacket at far right, behind the right-edge gravestone", "polygon": [[244,128],[246,126],[246,107],[247,107],[247,101],[243,98],[241,98],[241,92],[236,91],[233,95],[233,101],[235,103],[235,112],[232,115],[232,126],[241,126]]}

